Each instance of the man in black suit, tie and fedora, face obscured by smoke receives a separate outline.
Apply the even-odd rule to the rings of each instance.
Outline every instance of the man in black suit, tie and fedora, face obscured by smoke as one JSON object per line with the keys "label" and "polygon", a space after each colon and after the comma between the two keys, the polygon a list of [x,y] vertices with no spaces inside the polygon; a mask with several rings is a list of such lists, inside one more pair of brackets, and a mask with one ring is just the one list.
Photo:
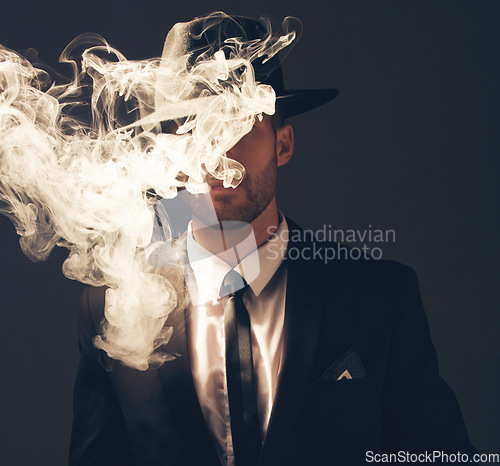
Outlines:
{"label": "man in black suit, tie and fedora, face obscured by smoke", "polygon": [[[239,17],[221,24],[219,47],[241,34],[259,40],[265,29]],[[208,40],[192,25],[186,37],[193,51]],[[379,453],[473,454],[438,374],[414,272],[389,261],[310,260],[317,245],[277,208],[277,168],[293,153],[283,120],[337,92],[287,92],[276,60],[254,68],[274,87],[278,114],[256,117],[228,151],[245,178],[233,189],[207,176],[208,194],[182,194],[193,212],[180,247],[191,303],[167,321],[177,357],[147,371],[111,361],[92,344],[105,290],[82,297],[70,464],[345,465]],[[161,248],[149,254],[158,267]]]}

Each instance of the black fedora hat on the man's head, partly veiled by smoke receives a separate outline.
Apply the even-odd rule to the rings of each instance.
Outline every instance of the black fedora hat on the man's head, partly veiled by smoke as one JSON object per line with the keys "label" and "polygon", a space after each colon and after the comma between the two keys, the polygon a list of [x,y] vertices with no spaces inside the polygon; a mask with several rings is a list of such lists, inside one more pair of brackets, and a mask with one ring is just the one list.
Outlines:
{"label": "black fedora hat on the man's head, partly veiled by smoke", "polygon": [[[162,57],[190,55],[191,63],[219,50],[229,53],[234,40],[254,47],[270,38],[269,21],[222,12],[177,23],[165,39]],[[256,80],[273,87],[280,116],[289,118],[323,105],[338,95],[337,89],[285,89],[278,54],[259,56],[251,61]]]}

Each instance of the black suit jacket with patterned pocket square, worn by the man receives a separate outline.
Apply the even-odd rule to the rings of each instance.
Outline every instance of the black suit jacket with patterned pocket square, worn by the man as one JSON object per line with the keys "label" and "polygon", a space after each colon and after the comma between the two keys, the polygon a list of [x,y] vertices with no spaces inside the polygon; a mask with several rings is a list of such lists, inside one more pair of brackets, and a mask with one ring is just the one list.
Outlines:
{"label": "black suit jacket with patterned pocket square, worn by the man", "polygon": [[[260,465],[366,464],[367,451],[472,455],[455,395],[438,373],[413,270],[309,260],[312,248],[334,245],[299,240],[287,221],[283,360]],[[141,372],[92,346],[104,292],[89,288],[82,297],[70,465],[220,466],[193,385],[184,311],[167,322],[180,356]],[[360,377],[328,376],[353,353]]]}

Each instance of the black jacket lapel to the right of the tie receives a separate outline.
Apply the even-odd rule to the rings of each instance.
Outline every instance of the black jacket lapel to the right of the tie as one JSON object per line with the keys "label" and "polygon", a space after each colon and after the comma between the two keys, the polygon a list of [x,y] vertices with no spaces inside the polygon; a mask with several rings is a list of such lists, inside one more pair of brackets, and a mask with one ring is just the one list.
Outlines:
{"label": "black jacket lapel to the right of the tie", "polygon": [[287,222],[290,240],[285,259],[288,272],[282,366],[262,449],[261,466],[279,463],[283,444],[311,378],[322,315],[320,284],[322,274],[318,270],[320,264],[302,258],[300,252],[307,244],[294,240],[302,237],[301,234],[297,234],[301,230],[288,218]]}

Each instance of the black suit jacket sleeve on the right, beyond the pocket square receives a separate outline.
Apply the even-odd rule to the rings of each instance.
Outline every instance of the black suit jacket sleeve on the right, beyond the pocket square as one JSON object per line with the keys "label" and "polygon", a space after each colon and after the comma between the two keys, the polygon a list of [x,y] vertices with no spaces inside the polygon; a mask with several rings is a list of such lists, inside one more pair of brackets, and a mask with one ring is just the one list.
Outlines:
{"label": "black suit jacket sleeve on the right, beyond the pocket square", "polygon": [[384,387],[384,451],[460,452],[472,459],[477,450],[455,394],[439,375],[417,277],[408,267],[396,302]]}

